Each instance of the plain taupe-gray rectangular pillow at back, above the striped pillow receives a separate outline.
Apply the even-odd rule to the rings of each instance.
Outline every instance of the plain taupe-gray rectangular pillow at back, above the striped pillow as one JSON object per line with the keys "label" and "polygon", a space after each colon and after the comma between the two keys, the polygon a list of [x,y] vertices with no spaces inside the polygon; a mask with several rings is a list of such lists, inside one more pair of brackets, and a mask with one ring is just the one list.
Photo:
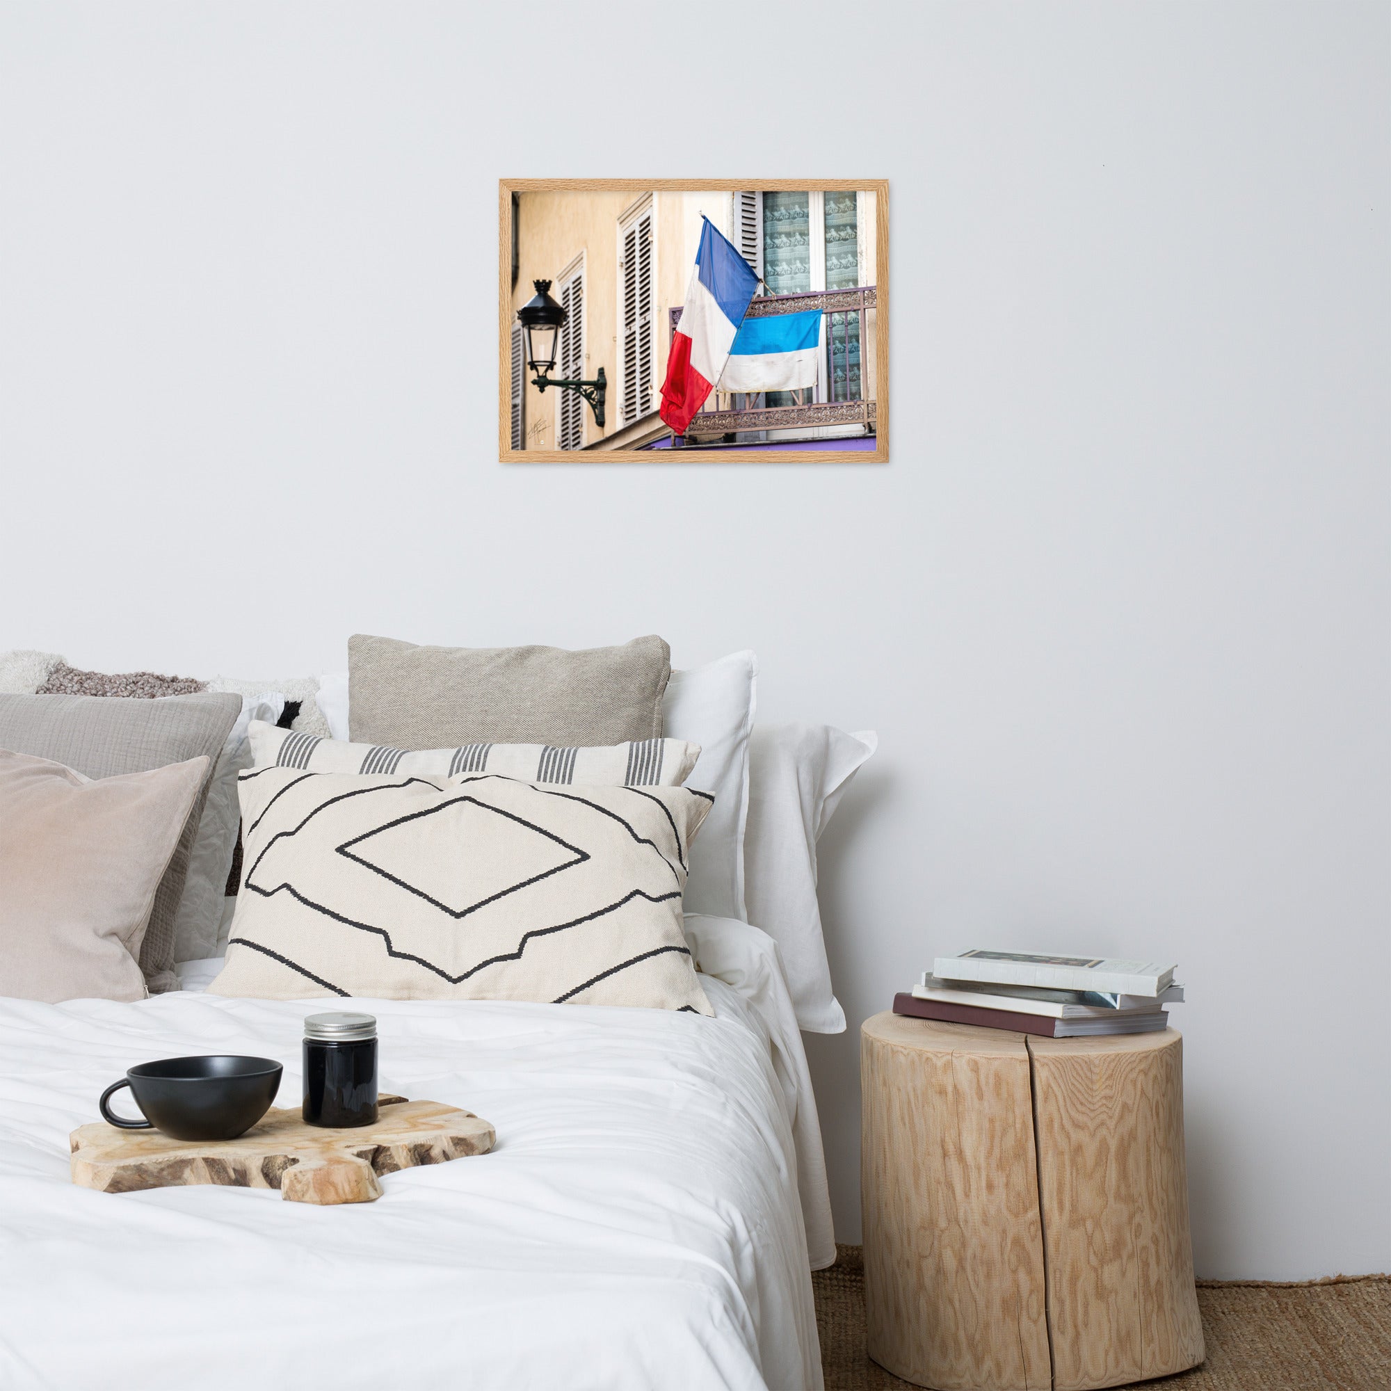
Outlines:
{"label": "plain taupe-gray rectangular pillow at back, above the striped pillow", "polygon": [[662,737],[672,675],[659,637],[569,652],[561,647],[416,647],[348,641],[348,726],[356,744],[594,748]]}

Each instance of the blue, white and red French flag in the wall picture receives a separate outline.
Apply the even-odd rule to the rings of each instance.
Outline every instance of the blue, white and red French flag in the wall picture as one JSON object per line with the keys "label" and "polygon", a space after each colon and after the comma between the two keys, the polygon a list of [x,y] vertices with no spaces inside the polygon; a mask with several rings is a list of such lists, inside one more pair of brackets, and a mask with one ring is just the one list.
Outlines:
{"label": "blue, white and red French flag in the wall picture", "polygon": [[686,434],[691,417],[715,389],[757,288],[758,277],[748,262],[707,217],[662,383],[661,417],[673,434]]}

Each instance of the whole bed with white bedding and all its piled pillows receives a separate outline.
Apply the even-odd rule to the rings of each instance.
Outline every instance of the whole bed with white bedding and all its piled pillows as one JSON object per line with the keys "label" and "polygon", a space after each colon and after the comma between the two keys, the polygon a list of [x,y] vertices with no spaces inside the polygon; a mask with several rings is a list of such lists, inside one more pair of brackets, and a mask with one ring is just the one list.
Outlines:
{"label": "whole bed with white bedding and all its piled pillows", "polygon": [[[356,686],[0,654],[0,1388],[818,1391],[815,842],[872,736],[755,739],[747,651],[363,644]],[[341,997],[490,1153],[339,1207],[70,1181],[136,1063],[274,1057],[296,1106]]]}

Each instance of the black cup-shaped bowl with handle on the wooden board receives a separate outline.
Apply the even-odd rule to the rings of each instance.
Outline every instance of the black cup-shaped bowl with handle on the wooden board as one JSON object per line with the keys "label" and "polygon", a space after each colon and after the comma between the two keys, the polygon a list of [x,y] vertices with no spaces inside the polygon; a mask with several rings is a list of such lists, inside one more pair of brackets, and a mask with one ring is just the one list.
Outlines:
{"label": "black cup-shaped bowl with handle on the wooden board", "polygon": [[[280,1063],[268,1057],[166,1057],[132,1067],[102,1093],[102,1117],[121,1129],[160,1129],[174,1139],[236,1139],[270,1110]],[[143,1121],[111,1111],[113,1092],[129,1086]]]}

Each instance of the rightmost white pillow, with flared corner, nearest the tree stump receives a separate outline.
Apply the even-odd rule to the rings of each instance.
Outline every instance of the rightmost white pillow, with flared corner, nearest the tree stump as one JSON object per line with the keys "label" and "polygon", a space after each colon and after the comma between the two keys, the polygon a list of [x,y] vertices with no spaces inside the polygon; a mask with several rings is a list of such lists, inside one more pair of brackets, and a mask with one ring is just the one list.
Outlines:
{"label": "rightmost white pillow, with flared corner, nearest the tree stump", "polygon": [[846,734],[829,725],[771,725],[750,740],[748,921],[776,940],[797,1024],[812,1034],[846,1027],[821,935],[817,840],[878,747],[872,730]]}

